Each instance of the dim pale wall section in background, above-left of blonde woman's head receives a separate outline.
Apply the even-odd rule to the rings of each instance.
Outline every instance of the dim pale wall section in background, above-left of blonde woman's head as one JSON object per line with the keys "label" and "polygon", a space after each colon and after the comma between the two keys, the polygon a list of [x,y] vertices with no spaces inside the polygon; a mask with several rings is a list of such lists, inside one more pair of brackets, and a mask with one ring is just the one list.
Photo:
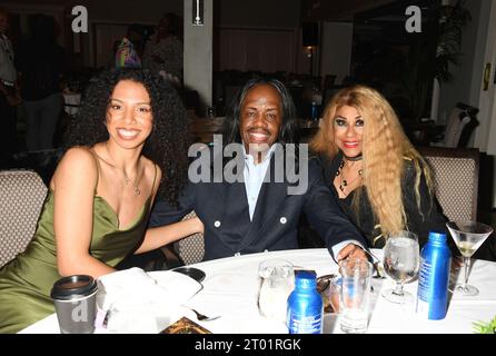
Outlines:
{"label": "dim pale wall section in background, above-left of blonde woman's head", "polygon": [[351,61],[353,23],[323,22],[320,76],[336,75],[336,83],[349,76]]}

